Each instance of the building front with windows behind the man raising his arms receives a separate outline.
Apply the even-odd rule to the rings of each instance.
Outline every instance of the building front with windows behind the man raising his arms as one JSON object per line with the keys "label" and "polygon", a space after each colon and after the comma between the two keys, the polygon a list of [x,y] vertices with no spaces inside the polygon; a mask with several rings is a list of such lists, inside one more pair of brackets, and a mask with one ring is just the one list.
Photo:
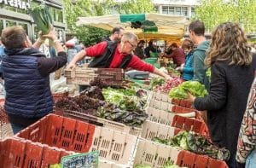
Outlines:
{"label": "building front with windows behind the man raising his arms", "polygon": [[[67,26],[64,20],[62,0],[46,0],[44,3],[53,17],[58,38],[64,41]],[[29,9],[40,4],[40,0],[0,0],[0,34],[5,27],[22,26],[34,42],[38,38],[38,27],[33,23]]]}

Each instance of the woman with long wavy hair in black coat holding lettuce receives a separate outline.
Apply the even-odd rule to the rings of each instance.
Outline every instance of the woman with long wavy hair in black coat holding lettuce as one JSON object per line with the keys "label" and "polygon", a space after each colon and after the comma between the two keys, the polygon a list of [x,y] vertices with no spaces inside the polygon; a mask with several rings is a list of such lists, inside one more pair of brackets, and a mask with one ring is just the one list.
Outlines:
{"label": "woman with long wavy hair in black coat holding lettuce", "polygon": [[226,22],[212,32],[205,64],[211,67],[209,95],[194,97],[197,110],[207,110],[212,142],[230,150],[228,165],[236,167],[236,146],[247,97],[253,83],[253,56],[245,33],[235,23]]}

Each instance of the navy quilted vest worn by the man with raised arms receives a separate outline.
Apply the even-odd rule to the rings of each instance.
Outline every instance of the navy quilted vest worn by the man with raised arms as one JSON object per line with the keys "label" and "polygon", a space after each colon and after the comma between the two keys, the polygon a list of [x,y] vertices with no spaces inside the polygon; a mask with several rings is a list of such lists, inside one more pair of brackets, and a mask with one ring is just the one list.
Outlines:
{"label": "navy quilted vest worn by the man with raised arms", "polygon": [[5,110],[12,117],[36,119],[51,113],[54,101],[49,75],[38,71],[38,49],[17,49],[3,58]]}

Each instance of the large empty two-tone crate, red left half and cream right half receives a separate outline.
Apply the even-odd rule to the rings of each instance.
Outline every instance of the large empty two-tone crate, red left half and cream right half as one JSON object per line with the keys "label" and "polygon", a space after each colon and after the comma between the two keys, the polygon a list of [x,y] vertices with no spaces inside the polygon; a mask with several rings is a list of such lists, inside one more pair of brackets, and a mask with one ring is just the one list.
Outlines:
{"label": "large empty two-tone crate, red left half and cream right half", "polygon": [[137,136],[55,114],[45,116],[15,136],[75,153],[99,151],[102,167],[112,165],[109,163],[130,167],[137,147]]}

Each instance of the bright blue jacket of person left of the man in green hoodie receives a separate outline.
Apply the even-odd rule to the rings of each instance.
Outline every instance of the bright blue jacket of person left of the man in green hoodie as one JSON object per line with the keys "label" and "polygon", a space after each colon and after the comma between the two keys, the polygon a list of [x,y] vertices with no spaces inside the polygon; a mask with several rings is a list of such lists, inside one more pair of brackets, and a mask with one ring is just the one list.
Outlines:
{"label": "bright blue jacket of person left of the man in green hoodie", "polygon": [[191,80],[194,76],[193,61],[194,61],[193,51],[190,51],[189,54],[186,55],[185,65],[183,67],[184,80]]}

